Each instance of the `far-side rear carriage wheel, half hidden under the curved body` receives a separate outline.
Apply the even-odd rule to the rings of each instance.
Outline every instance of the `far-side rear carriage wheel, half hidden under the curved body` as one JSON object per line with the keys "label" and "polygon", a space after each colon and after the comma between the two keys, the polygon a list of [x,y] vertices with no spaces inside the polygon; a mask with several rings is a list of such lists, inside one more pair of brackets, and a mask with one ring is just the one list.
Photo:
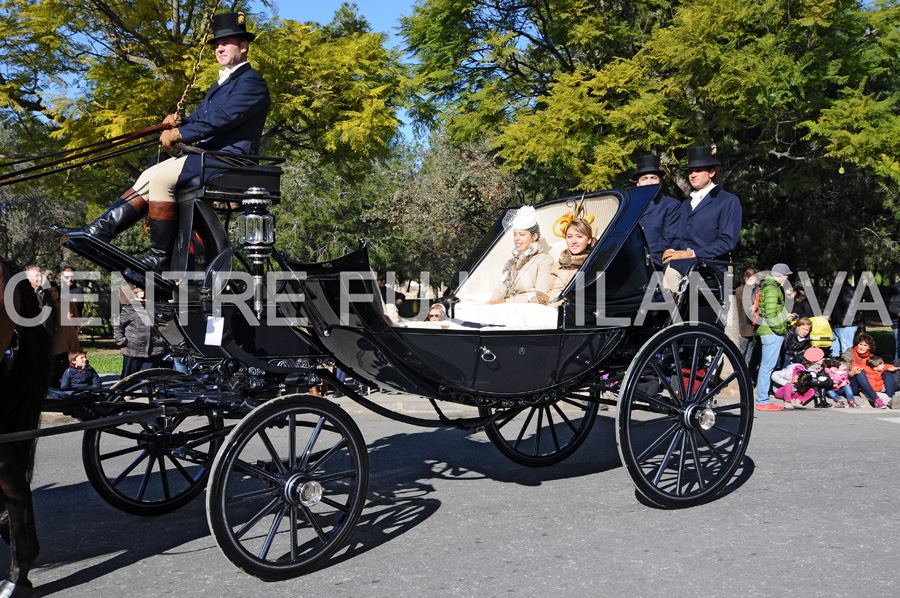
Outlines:
{"label": "far-side rear carriage wheel, half hidden under the curved body", "polygon": [[501,411],[484,427],[491,443],[507,458],[528,467],[544,467],[569,458],[584,442],[600,404],[588,394],[571,394],[548,405],[532,407],[479,407],[487,417]]}

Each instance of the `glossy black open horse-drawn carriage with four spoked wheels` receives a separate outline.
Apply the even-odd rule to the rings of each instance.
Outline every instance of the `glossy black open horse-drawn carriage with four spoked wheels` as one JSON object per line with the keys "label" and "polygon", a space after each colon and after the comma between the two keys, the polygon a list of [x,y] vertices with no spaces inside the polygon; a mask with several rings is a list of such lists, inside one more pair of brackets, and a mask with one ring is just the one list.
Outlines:
{"label": "glossy black open horse-drawn carriage with four spoked wheels", "polygon": [[[90,427],[85,470],[113,506],[155,515],[205,488],[212,533],[241,569],[283,579],[315,568],[352,532],[369,477],[353,420],[308,394],[322,380],[400,421],[483,429],[527,466],[571,455],[600,406],[614,405],[622,463],[637,490],[665,507],[714,498],[740,466],[751,383],[715,317],[727,305],[721,265],[698,264],[690,280],[703,292],[685,286],[677,300],[659,292],[638,225],[659,187],[536,206],[554,258],[563,242],[546,231],[571,215],[576,200],[598,239],[559,305],[486,304],[508,257],[504,214],[454,277],[451,319],[398,323],[386,315],[364,243],[316,264],[274,250],[268,207],[280,200],[279,175],[277,160],[260,158],[186,192],[171,268],[183,272],[177,276],[146,272],[90,237],[64,238],[64,246],[146,287],[161,334],[192,366],[187,374],[139,372],[109,390],[48,403]],[[229,228],[237,228],[234,244]],[[680,321],[692,299],[710,294],[712,317]],[[427,397],[435,417],[389,411],[332,366]],[[448,417],[438,401],[476,407],[477,415]]]}

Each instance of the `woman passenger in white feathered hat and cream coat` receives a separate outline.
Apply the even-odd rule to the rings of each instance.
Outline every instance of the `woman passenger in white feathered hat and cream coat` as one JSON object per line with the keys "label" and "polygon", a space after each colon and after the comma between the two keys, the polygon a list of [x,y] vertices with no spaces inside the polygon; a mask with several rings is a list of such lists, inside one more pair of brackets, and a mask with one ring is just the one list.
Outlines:
{"label": "woman passenger in white feathered hat and cream coat", "polygon": [[512,221],[513,257],[503,267],[502,280],[489,303],[540,303],[547,305],[553,258],[543,252],[538,240],[541,229],[533,207],[522,206]]}

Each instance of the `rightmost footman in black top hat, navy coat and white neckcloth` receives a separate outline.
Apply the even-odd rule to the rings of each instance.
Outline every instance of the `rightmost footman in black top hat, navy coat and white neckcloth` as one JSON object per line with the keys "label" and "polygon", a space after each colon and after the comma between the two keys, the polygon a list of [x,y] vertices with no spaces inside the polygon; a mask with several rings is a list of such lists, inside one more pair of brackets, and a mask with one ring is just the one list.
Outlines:
{"label": "rightmost footman in black top hat, navy coat and white neckcloth", "polygon": [[689,147],[687,155],[685,168],[694,191],[681,204],[678,234],[662,260],[672,290],[697,258],[730,260],[741,236],[741,201],[713,182],[719,166],[715,146]]}

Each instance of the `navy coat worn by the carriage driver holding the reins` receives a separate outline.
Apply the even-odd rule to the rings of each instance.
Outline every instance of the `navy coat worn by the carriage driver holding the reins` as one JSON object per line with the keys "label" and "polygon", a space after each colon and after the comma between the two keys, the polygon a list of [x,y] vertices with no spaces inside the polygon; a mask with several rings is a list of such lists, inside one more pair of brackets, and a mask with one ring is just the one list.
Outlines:
{"label": "navy coat worn by the carriage driver holding the reins", "polygon": [[[259,154],[271,99],[262,75],[249,65],[231,74],[222,85],[209,88],[197,109],[178,126],[182,140],[205,150]],[[216,171],[207,169],[209,177]],[[188,154],[178,186],[200,174],[200,156]]]}

